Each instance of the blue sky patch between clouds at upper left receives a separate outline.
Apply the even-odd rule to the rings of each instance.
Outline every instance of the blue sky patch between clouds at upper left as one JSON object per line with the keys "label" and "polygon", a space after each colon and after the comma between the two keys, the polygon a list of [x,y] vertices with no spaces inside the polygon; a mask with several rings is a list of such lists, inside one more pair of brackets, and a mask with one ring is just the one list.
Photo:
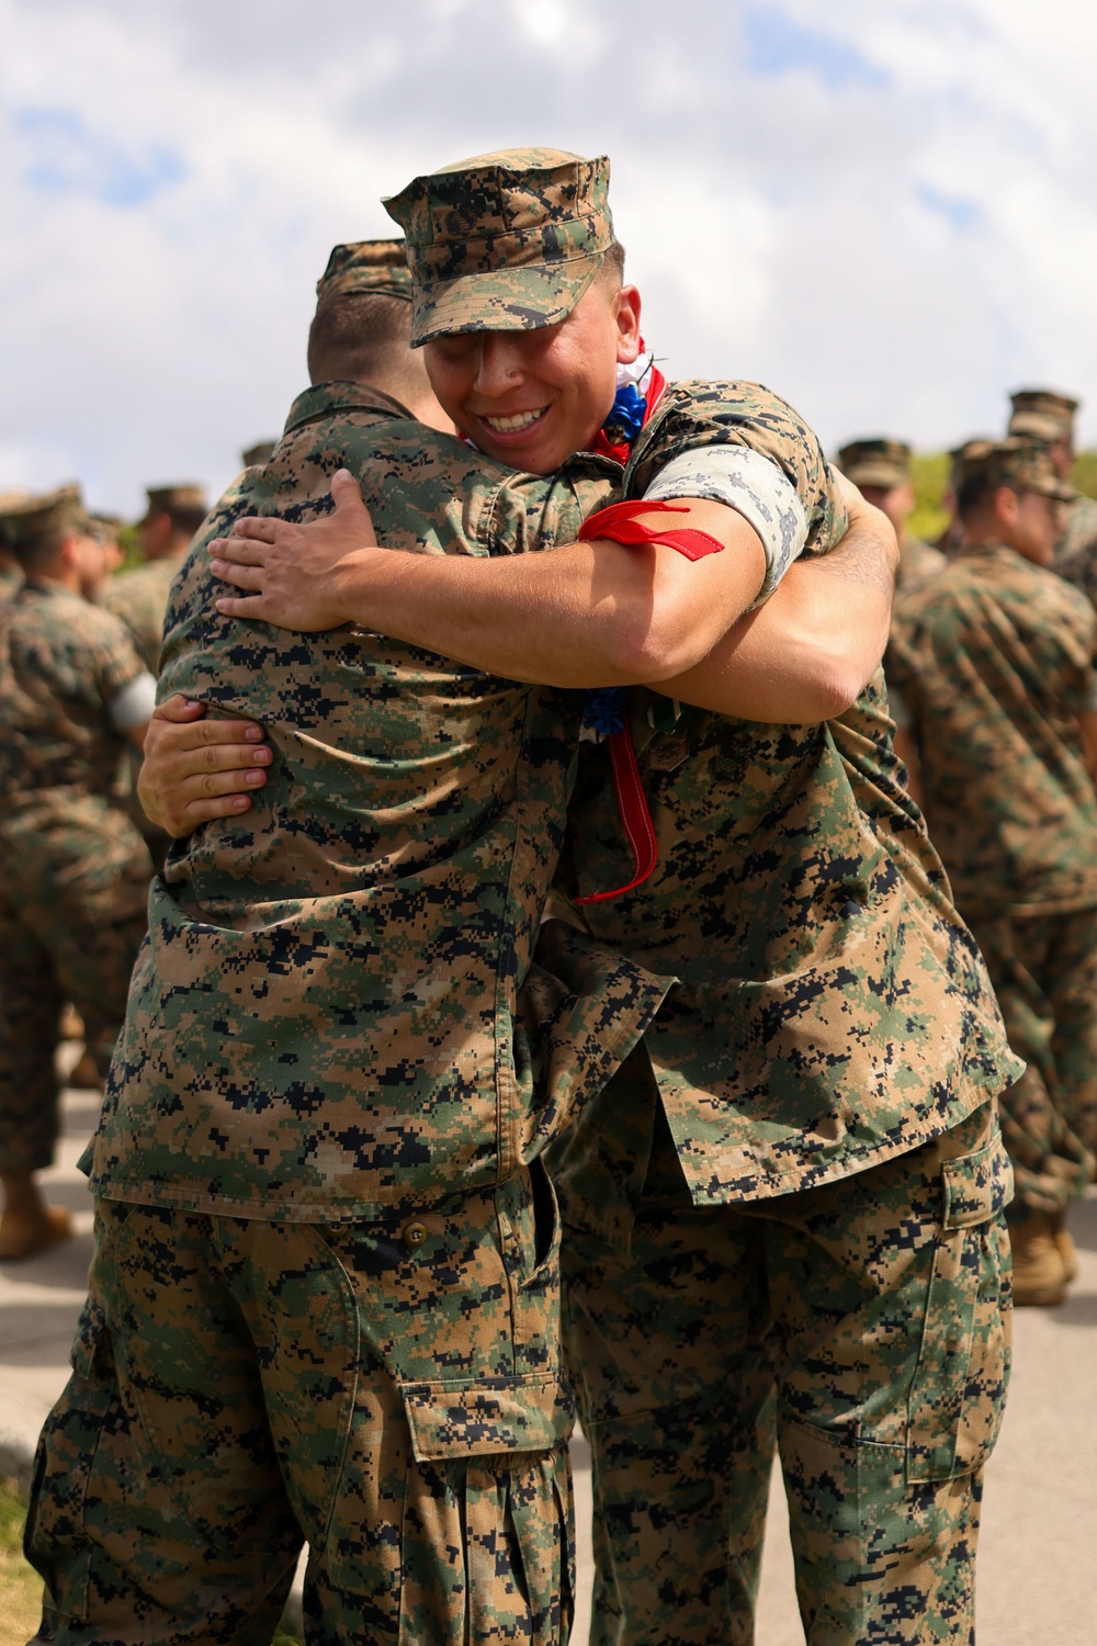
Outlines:
{"label": "blue sky patch between clouds at upper left", "polygon": [[127,150],[90,132],[74,109],[20,109],[15,130],[26,160],[23,181],[41,194],[89,194],[105,206],[145,206],[186,176],[183,158],[163,143]]}

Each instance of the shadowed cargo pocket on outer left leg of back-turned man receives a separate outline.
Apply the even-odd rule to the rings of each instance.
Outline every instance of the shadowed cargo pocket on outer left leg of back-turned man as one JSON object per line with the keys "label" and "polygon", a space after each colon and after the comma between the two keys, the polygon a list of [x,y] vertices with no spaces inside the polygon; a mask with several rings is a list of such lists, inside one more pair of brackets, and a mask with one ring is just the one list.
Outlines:
{"label": "shadowed cargo pocket on outer left leg of back-turned man", "polygon": [[26,1559],[46,1585],[44,1605],[67,1618],[87,1615],[92,1542],[84,1504],[115,1393],[110,1332],[102,1305],[89,1297],[76,1328],[72,1376],[38,1440],[23,1537]]}

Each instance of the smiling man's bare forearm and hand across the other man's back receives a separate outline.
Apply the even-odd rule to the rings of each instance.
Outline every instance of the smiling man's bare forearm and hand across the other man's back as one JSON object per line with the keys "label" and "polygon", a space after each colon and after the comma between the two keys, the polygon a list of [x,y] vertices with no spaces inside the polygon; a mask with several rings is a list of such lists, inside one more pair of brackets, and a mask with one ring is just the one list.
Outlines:
{"label": "smiling man's bare forearm and hand across the other man's back", "polygon": [[331,530],[309,532],[319,555],[303,553],[301,528],[285,520],[242,520],[238,537],[211,543],[219,576],[262,591],[227,596],[219,611],[291,629],[359,622],[533,685],[635,685],[701,662],[752,606],[766,570],[757,532],[709,499],[663,518],[709,533],[725,550],[697,561],[658,542],[609,540],[551,555],[393,555],[372,542],[368,512],[345,471],[332,479],[332,499]]}

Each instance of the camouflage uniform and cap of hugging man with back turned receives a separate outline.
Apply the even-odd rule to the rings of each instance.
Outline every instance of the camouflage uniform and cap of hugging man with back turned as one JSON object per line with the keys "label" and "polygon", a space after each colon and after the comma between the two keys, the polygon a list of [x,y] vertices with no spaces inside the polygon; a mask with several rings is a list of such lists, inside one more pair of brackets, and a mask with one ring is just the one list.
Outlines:
{"label": "camouflage uniform and cap of hugging man with back turned", "polygon": [[[398,258],[337,249],[317,323],[368,300],[359,331],[377,303],[406,328]],[[597,459],[518,476],[326,380],[176,583],[161,691],[257,716],[276,759],[255,810],[153,884],[28,1523],[43,1641],[266,1643],[303,1541],[311,1643],[548,1646],[571,1625],[539,1157],[664,983],[594,945],[531,965],[577,698],[214,609],[204,545],[245,512],[308,518],[340,464],[416,555],[548,548],[612,484]]]}

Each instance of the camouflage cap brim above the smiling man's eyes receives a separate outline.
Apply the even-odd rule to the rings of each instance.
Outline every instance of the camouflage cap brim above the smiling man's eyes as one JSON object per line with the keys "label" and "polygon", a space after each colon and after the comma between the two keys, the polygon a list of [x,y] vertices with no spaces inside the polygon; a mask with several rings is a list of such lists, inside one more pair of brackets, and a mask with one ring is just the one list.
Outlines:
{"label": "camouflage cap brim above the smiling man's eyes", "polygon": [[526,263],[413,286],[411,347],[470,331],[539,331],[566,319],[590,288],[605,253],[566,263]]}

